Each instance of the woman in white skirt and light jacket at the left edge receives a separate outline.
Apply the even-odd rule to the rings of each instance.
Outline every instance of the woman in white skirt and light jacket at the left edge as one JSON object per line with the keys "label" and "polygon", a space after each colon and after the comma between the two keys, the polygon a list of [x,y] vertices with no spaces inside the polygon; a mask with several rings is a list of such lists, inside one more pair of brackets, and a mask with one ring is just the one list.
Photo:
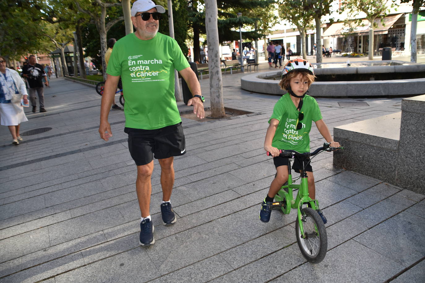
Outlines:
{"label": "woman in white skirt and light jacket at the left edge", "polygon": [[0,84],[0,124],[8,126],[13,138],[12,144],[18,145],[23,140],[19,135],[20,123],[28,121],[20,98],[28,104],[28,94],[19,73],[6,68],[6,59],[3,56],[0,56]]}

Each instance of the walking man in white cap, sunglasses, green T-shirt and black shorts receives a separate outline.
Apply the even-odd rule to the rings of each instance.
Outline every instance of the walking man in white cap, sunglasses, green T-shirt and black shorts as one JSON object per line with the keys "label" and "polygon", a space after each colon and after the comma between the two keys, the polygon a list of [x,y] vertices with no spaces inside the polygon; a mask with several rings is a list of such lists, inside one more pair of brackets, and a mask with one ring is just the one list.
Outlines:
{"label": "walking man in white cap, sunglasses, green T-shirt and black shorts", "polygon": [[186,153],[181,118],[174,98],[174,70],[178,70],[193,94],[187,105],[204,118],[204,97],[195,73],[190,68],[177,42],[158,33],[159,18],[165,9],[151,0],[137,0],[131,8],[136,32],[119,39],[108,63],[108,78],[102,95],[99,134],[104,140],[112,137],[108,123],[119,76],[125,93],[125,129],[128,149],[137,165],[136,193],[141,212],[139,241],[142,246],[155,242],[150,217],[150,178],[153,157],[161,166],[164,225],[176,222],[170,197],[174,183],[174,156]]}

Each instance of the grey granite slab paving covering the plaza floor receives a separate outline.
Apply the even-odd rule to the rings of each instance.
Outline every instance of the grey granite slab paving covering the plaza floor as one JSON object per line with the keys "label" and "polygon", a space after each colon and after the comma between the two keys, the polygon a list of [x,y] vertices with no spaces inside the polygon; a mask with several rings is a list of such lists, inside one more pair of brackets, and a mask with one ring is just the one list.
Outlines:
{"label": "grey granite slab paving covering the plaza floor", "polygon": [[[268,70],[267,63],[259,69]],[[424,282],[425,196],[334,167],[331,153],[312,159],[316,197],[328,219],[321,263],[301,255],[294,210],[273,211],[269,223],[258,219],[275,175],[263,142],[279,96],[241,90],[248,73],[223,75],[223,98],[224,106],[251,114],[182,118],[187,154],[174,161],[177,222],[170,227],[161,224],[161,170],[154,161],[150,247],[139,246],[136,165],[124,112],[111,110],[113,137],[105,142],[94,88],[52,77],[48,112],[25,109],[28,122],[20,128],[50,131],[23,135],[13,146],[0,127],[0,282]],[[210,107],[208,76],[200,83]],[[401,111],[401,98],[317,103],[331,133]],[[192,109],[177,104],[182,113]],[[323,142],[313,123],[312,149]]]}

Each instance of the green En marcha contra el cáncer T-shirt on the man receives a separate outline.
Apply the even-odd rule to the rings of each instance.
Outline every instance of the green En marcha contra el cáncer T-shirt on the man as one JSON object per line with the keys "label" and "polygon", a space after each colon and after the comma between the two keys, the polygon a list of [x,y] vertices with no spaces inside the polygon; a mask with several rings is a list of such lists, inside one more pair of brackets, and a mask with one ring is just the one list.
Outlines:
{"label": "green En marcha contra el c\u00e1ncer T-shirt on the man", "polygon": [[157,33],[142,40],[128,34],[113,46],[107,73],[121,76],[125,126],[159,129],[181,122],[174,97],[174,69],[189,66],[176,40]]}

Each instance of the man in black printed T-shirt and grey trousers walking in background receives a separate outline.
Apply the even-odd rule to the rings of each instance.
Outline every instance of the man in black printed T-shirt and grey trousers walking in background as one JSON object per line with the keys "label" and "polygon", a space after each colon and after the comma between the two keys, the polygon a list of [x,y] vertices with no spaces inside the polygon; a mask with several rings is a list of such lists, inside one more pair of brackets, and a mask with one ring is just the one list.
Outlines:
{"label": "man in black printed T-shirt and grey trousers walking in background", "polygon": [[[43,87],[43,76],[46,73],[40,64],[37,64],[37,60],[34,55],[29,56],[28,64],[23,67],[22,76],[28,81],[28,93],[31,101],[32,112],[35,112],[37,104],[35,101],[35,92],[37,91],[38,99],[40,101],[40,112],[46,112],[44,109],[44,87]],[[48,80],[46,79],[46,86],[48,86]]]}

